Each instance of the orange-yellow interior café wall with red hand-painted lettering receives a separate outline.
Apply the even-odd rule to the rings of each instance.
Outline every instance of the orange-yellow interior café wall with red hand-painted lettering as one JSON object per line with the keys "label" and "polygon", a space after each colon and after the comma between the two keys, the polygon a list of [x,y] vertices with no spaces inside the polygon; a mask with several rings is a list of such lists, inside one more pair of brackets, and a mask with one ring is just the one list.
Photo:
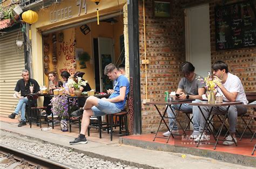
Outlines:
{"label": "orange-yellow interior caf\u00e9 wall with red hand-painted lettering", "polygon": [[[116,17],[118,19],[119,17]],[[106,22],[100,22],[100,25],[97,25],[97,22],[92,22],[87,24],[91,32],[84,35],[80,31],[80,26],[77,26],[75,28],[71,29],[66,29],[61,32],[63,32],[64,35],[64,40],[63,43],[56,43],[57,46],[57,59],[58,59],[58,64],[57,64],[57,73],[60,77],[60,73],[62,71],[68,71],[71,75],[76,72],[84,72],[83,78],[87,80],[91,86],[92,89],[95,89],[95,65],[94,65],[94,56],[93,56],[93,38],[98,38],[98,37],[104,37],[104,38],[113,38],[114,41],[114,61],[116,62],[119,54],[120,54],[120,41],[119,37],[123,33],[123,24],[121,22],[111,24],[111,23],[106,23]],[[58,34],[60,31],[55,32],[56,38],[58,40]],[[52,45],[52,34],[49,34],[47,36],[43,37],[44,43],[49,44],[50,50],[47,53],[49,56],[49,61],[47,62],[49,64],[49,71],[53,71],[53,65],[52,65],[52,50],[53,50],[53,45]],[[79,61],[76,60],[76,68],[73,65],[73,59],[75,57],[75,53],[70,53],[73,51],[72,45],[73,41],[76,39],[76,48],[83,48],[84,52],[89,53],[91,56],[91,61],[86,62],[86,68],[80,68]],[[64,44],[64,45],[63,45]],[[62,50],[61,47],[62,46]],[[68,50],[63,51],[63,48],[68,47]],[[69,50],[71,48],[71,50]],[[46,55],[46,53],[44,53]],[[68,58],[67,58],[68,57]],[[66,60],[68,59],[68,60]],[[45,61],[44,61],[45,62]],[[48,84],[48,76],[45,74],[45,84]]]}

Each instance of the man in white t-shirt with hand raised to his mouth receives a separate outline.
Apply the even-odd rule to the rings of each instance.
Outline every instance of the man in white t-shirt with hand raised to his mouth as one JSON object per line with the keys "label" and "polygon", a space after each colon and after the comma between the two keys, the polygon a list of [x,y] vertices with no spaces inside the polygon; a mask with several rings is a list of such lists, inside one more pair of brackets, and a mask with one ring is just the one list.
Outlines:
{"label": "man in white t-shirt with hand raised to his mouth", "polygon": [[[238,76],[233,75],[228,72],[228,67],[227,64],[223,61],[217,61],[212,65],[213,69],[213,75],[215,79],[220,79],[222,82],[221,84],[218,85],[217,91],[220,95],[223,95],[223,100],[224,101],[240,101],[244,104],[248,104],[248,101],[246,99],[245,95],[245,90],[244,87],[242,86],[241,80],[238,78]],[[209,116],[209,108],[207,107],[202,107],[201,110],[205,115],[205,118]],[[214,112],[220,112],[222,114],[225,114],[227,110],[226,106],[219,107],[213,107],[212,109],[212,114]],[[198,109],[198,111],[200,111]],[[242,105],[231,105],[230,108],[228,109],[228,123],[230,124],[229,126],[229,133],[230,135],[227,136],[225,142],[223,142],[224,145],[232,145],[234,142],[232,141],[232,136],[237,142],[237,139],[235,138],[235,127],[237,125],[237,116],[245,114],[247,109],[243,107]],[[200,118],[200,127],[199,127],[199,132],[203,131],[205,125],[205,119],[203,115],[201,115]],[[206,140],[206,135],[205,133],[202,133],[197,139],[195,139],[195,142],[198,142],[199,140]]]}

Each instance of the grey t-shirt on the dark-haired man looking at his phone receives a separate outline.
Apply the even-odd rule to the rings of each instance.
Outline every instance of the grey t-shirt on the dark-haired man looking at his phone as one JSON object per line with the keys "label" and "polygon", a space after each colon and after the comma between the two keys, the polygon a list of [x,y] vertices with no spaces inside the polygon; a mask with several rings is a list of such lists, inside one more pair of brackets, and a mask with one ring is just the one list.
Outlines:
{"label": "grey t-shirt on the dark-haired man looking at his phone", "polygon": [[182,78],[179,82],[179,89],[183,89],[187,95],[198,95],[198,88],[205,87],[205,83],[199,80],[199,77],[203,79],[203,76],[195,74],[193,81],[188,81],[186,78]]}

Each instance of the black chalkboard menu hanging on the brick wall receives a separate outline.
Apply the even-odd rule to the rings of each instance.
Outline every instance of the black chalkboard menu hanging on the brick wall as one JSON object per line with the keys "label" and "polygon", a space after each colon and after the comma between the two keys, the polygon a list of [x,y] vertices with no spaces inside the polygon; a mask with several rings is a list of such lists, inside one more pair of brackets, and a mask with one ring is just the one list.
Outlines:
{"label": "black chalkboard menu hanging on the brick wall", "polygon": [[252,1],[215,7],[215,40],[217,51],[256,46]]}

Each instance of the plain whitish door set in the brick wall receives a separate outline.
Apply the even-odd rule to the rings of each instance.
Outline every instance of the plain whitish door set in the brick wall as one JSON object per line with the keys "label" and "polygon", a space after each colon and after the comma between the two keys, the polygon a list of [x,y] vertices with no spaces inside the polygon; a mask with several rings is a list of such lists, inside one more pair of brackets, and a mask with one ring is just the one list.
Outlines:
{"label": "plain whitish door set in the brick wall", "polygon": [[211,41],[209,4],[185,9],[186,61],[190,61],[195,73],[207,76],[211,71]]}

